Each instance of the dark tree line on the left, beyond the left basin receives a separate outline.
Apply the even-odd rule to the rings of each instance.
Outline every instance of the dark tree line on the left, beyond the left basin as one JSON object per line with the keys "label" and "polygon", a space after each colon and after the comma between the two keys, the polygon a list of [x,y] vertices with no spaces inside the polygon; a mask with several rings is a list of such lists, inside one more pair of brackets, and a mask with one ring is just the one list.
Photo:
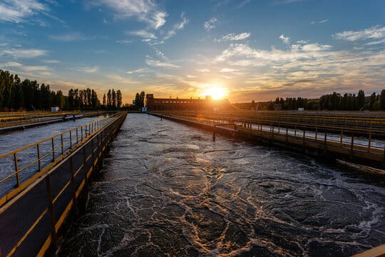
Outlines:
{"label": "dark tree line on the left, beyond the left basin", "polygon": [[51,106],[58,106],[62,110],[78,109],[118,109],[122,105],[120,90],[108,90],[103,96],[103,104],[93,89],[70,89],[68,96],[61,90],[53,91],[47,84],[24,79],[18,75],[0,69],[0,110],[50,110]]}

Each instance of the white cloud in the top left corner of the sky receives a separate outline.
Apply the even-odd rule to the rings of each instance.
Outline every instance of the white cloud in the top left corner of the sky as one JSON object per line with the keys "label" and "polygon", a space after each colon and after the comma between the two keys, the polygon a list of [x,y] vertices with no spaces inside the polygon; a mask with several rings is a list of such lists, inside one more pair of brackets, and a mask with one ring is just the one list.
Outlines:
{"label": "white cloud in the top left corner of the sky", "polygon": [[27,22],[29,17],[43,11],[48,6],[35,0],[5,0],[0,3],[0,20],[15,23]]}

